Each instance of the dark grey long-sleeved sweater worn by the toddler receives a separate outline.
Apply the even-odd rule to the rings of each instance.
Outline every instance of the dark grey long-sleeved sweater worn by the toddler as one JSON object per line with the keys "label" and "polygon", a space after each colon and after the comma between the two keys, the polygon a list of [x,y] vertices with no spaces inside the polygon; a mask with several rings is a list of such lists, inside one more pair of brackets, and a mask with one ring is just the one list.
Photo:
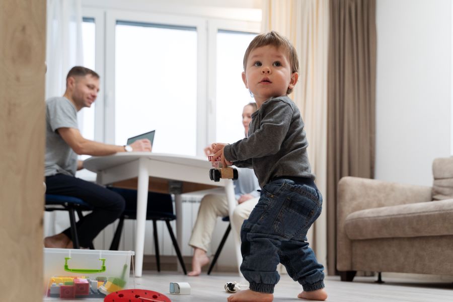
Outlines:
{"label": "dark grey long-sleeved sweater worn by the toddler", "polygon": [[249,137],[226,145],[225,159],[253,168],[262,188],[273,177],[315,179],[307,154],[307,137],[300,111],[287,96],[266,100],[252,114]]}

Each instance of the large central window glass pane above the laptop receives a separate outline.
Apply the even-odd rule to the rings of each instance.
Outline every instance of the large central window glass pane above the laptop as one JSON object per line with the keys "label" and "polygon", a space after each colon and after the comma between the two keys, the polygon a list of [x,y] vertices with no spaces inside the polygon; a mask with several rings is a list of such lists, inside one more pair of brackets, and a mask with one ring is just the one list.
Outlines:
{"label": "large central window glass pane above the laptop", "polygon": [[117,22],[115,143],[156,130],[153,152],[196,155],[197,32]]}

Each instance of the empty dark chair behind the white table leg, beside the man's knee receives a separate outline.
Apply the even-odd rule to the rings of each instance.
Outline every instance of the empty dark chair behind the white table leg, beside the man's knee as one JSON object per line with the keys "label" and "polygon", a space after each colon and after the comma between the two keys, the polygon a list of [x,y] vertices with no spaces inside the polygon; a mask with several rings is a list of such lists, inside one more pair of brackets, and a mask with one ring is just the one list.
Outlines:
{"label": "empty dark chair behind the white table leg, beside the man's knee", "polygon": [[[110,190],[120,194],[126,200],[126,208],[121,215],[116,228],[115,235],[110,245],[110,250],[118,250],[119,242],[121,238],[121,232],[123,230],[124,219],[136,219],[137,218],[137,191],[129,189],[121,189],[109,187]],[[173,214],[173,201],[170,194],[154,193],[148,192],[148,205],[146,207],[146,220],[153,220],[153,230],[154,230],[154,246],[156,250],[156,263],[158,271],[161,271],[161,261],[159,256],[159,241],[157,234],[157,220],[164,220],[167,224],[168,232],[172,239],[173,247],[175,248],[176,255],[178,256],[179,263],[184,271],[184,274],[187,274],[186,266],[181,255],[181,251],[176,241],[175,235],[173,233],[172,226],[170,221],[175,220],[176,215]]]}

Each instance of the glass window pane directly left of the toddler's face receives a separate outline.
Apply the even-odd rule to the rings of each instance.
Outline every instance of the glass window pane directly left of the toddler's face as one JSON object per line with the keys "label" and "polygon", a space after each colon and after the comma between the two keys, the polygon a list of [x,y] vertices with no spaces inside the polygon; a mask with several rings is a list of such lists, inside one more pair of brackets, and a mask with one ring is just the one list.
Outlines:
{"label": "glass window pane directly left of the toddler's face", "polygon": [[255,33],[217,32],[215,141],[232,143],[244,138],[242,109],[254,99],[242,82],[242,61],[255,36]]}

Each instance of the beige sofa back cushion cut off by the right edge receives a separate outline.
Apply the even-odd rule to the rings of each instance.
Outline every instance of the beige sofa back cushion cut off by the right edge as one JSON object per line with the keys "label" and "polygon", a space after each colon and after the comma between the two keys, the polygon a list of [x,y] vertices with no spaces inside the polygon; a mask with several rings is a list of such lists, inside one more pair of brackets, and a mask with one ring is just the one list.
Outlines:
{"label": "beige sofa back cushion cut off by the right edge", "polygon": [[432,174],[432,199],[453,198],[453,157],[435,159],[432,163]]}

